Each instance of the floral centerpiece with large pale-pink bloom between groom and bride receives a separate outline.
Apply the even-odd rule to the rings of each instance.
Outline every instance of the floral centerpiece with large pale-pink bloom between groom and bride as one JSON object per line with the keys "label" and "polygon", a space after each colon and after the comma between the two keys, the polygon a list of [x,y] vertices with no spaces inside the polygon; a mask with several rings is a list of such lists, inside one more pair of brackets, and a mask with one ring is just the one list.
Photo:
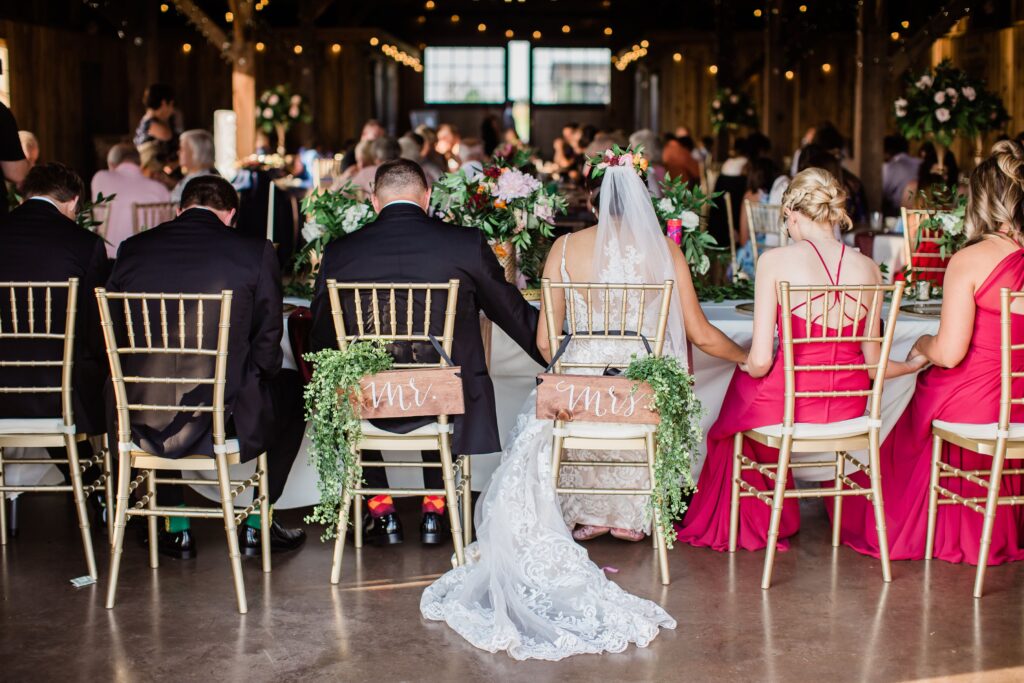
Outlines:
{"label": "floral centerpiece with large pale-pink bloom between groom and bride", "polygon": [[479,171],[460,169],[434,183],[431,208],[444,220],[482,231],[505,268],[516,281],[516,254],[538,237],[554,233],[555,216],[564,214],[565,198],[516,168],[515,157],[496,157]]}

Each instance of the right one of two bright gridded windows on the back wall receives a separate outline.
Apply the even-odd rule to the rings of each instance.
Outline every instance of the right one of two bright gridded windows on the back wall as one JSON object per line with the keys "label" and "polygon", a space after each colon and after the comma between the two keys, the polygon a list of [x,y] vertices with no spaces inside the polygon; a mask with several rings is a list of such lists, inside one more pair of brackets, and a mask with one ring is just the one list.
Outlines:
{"label": "right one of two bright gridded windows on the back wall", "polygon": [[603,47],[534,49],[535,104],[607,104],[611,50]]}

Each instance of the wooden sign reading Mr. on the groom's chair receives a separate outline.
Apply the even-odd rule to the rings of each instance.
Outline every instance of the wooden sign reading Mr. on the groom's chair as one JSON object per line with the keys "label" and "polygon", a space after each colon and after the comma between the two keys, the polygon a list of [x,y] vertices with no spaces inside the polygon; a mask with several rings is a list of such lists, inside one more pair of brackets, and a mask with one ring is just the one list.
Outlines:
{"label": "wooden sign reading Mr. on the groom's chair", "polygon": [[368,375],[359,380],[359,417],[372,420],[462,415],[466,407],[461,372],[458,367],[424,368]]}

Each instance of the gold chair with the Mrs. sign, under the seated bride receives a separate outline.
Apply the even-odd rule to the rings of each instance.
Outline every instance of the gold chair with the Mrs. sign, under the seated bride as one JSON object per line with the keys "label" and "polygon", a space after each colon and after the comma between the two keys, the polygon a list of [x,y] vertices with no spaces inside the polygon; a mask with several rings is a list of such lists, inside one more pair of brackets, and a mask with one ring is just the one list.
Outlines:
{"label": "gold chair with the Mrs. sign, under the seated bride", "polygon": [[[728,204],[726,204],[728,206]],[[585,343],[621,343],[622,359],[615,362],[583,362],[557,358],[554,372],[583,371],[580,374],[600,374],[606,368],[625,370],[631,354],[642,347],[640,340],[649,340],[650,352],[660,355],[665,346],[666,328],[669,323],[669,306],[672,301],[673,281],[662,285],[603,284],[603,283],[553,283],[541,281],[541,297],[548,326],[548,343],[552,351],[561,346],[568,330],[569,341]],[[555,292],[565,297],[565,319],[567,328],[555,319]],[[578,303],[585,302],[586,314],[577,310]],[[656,321],[649,314],[656,305]],[[582,306],[581,306],[582,308]],[[647,333],[650,333],[649,335]],[[568,348],[571,348],[569,346]],[[656,427],[653,425],[601,424],[594,422],[564,422],[556,420],[551,450],[555,490],[558,494],[582,496],[655,496],[654,467],[657,460]],[[642,451],[646,457],[640,461],[629,460],[562,460],[565,450],[581,451]],[[588,488],[583,486],[559,485],[562,468],[626,467],[646,469],[648,483],[637,488]],[[657,554],[662,583],[669,584],[669,553],[665,540],[658,532],[660,519],[656,508],[651,525],[654,550]]]}

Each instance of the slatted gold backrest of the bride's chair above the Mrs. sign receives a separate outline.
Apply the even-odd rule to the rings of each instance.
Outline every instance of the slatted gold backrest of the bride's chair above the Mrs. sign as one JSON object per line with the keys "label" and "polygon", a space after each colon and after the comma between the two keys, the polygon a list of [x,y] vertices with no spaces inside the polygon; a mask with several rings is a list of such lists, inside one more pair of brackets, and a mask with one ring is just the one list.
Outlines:
{"label": "slatted gold backrest of the bride's chair above the Mrs. sign", "polygon": [[[629,365],[631,353],[636,348],[641,348],[640,335],[647,338],[654,355],[660,355],[665,346],[674,285],[671,280],[660,285],[554,283],[547,278],[542,280],[541,299],[547,315],[548,342],[552,352],[565,339],[567,328],[573,341],[624,342],[622,360],[611,362],[610,367],[613,368],[625,369]],[[556,296],[564,297],[567,326],[554,317],[552,304]],[[583,316],[577,310],[578,303],[586,308],[585,321],[580,319]],[[555,372],[608,366],[607,362],[579,362],[560,358],[555,364]]]}

